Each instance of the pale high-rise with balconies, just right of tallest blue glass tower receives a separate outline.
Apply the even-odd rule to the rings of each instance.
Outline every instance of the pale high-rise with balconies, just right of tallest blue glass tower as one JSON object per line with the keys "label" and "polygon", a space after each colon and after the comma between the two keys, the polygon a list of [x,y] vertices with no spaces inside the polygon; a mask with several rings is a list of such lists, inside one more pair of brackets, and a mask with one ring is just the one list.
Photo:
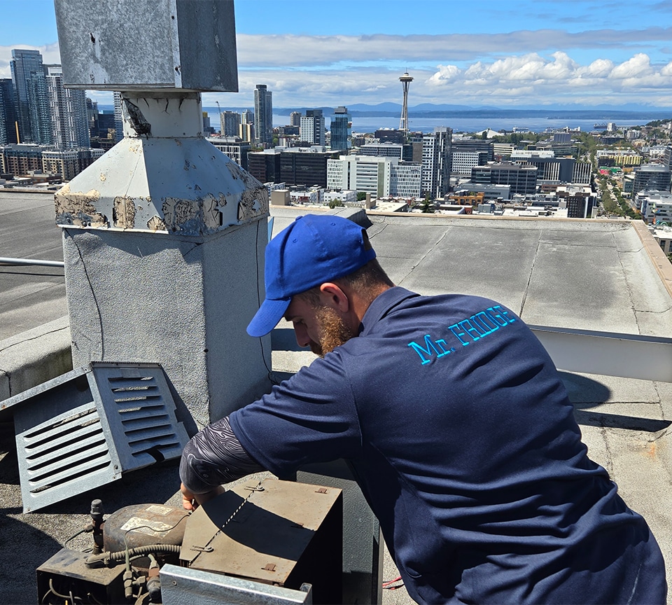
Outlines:
{"label": "pale high-rise with balconies, just right of tallest blue glass tower", "polygon": [[45,65],[51,116],[51,138],[57,149],[88,148],[91,144],[86,109],[86,93],[64,88],[60,65]]}

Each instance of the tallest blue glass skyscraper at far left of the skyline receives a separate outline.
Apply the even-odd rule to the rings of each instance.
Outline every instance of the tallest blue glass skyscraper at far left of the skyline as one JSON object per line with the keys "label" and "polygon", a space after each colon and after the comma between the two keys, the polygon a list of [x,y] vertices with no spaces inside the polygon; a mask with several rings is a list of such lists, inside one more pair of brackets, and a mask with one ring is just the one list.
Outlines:
{"label": "tallest blue glass skyscraper at far left of the skyline", "polygon": [[[43,141],[33,137],[34,132],[42,132],[45,122],[43,116],[40,116],[39,110],[41,107],[48,107],[42,55],[38,50],[13,48],[9,65],[17,104],[20,142],[42,143]],[[41,92],[43,93],[43,99],[38,98]],[[36,115],[31,115],[35,112]],[[40,120],[41,123],[33,127],[31,125],[33,120]],[[50,136],[49,120],[46,120],[46,125]]]}

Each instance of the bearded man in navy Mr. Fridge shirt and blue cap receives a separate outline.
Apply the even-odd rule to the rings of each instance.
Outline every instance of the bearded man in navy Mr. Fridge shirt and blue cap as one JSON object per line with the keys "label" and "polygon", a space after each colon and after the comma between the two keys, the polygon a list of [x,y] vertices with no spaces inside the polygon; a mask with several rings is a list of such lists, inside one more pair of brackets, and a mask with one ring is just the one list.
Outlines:
{"label": "bearded man in navy Mr. Fridge shirt and blue cap", "polygon": [[365,230],[333,216],[272,239],[265,282],[248,333],[285,317],[321,358],[193,438],[185,508],[261,468],[344,458],[418,602],[665,602],[657,543],[512,311],[393,286]]}

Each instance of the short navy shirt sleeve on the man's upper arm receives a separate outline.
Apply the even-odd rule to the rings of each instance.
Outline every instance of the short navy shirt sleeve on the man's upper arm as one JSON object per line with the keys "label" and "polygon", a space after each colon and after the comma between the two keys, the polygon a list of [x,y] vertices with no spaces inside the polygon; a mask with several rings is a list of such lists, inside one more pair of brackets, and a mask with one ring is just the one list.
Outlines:
{"label": "short navy shirt sleeve on the man's upper arm", "polygon": [[245,450],[279,478],[304,464],[360,455],[362,436],[342,348],[230,415]]}

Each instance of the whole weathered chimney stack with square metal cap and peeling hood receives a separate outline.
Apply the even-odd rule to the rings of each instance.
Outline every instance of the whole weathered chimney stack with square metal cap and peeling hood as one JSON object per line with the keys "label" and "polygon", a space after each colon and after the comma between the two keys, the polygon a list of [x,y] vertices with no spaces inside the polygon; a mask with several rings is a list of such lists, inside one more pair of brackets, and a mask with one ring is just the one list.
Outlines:
{"label": "whole weathered chimney stack with square metal cap and peeling hood", "polygon": [[120,91],[124,138],[55,195],[73,364],[161,363],[198,424],[269,387],[268,194],[203,136],[237,92],[232,0],[55,0],[64,83]]}

